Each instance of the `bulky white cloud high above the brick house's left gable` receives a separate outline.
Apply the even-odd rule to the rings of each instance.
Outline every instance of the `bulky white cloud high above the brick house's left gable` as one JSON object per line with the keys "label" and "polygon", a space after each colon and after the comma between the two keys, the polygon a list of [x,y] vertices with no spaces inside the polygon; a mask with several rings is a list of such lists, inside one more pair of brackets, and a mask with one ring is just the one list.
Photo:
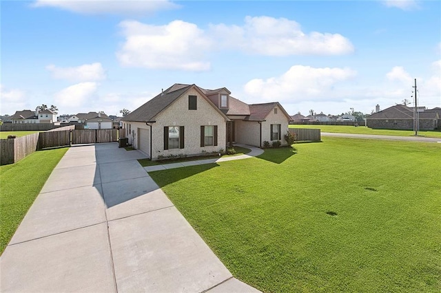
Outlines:
{"label": "bulky white cloud high above the brick house's left gable", "polygon": [[172,21],[167,25],[146,25],[139,21],[120,23],[125,43],[116,53],[121,65],[153,69],[205,71],[202,61],[210,42],[193,23]]}

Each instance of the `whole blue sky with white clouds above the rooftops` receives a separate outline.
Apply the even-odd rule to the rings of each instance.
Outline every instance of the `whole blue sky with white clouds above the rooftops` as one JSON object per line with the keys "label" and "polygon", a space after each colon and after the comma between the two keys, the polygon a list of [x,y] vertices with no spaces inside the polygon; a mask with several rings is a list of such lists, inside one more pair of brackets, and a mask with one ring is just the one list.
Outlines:
{"label": "whole blue sky with white clouds above the rooftops", "polygon": [[133,111],[174,83],[294,115],[441,107],[441,1],[1,1],[0,113]]}

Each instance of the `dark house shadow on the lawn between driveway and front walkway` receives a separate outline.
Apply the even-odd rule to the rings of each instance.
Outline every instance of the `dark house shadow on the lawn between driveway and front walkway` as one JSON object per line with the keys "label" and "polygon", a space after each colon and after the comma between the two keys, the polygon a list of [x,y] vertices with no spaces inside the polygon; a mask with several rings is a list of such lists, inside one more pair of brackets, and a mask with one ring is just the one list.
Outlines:
{"label": "dark house shadow on the lawn between driveway and front walkway", "polygon": [[178,182],[179,180],[184,180],[187,177],[192,177],[198,173],[202,173],[208,171],[209,169],[213,169],[218,167],[219,165],[216,163],[213,164],[203,164],[196,166],[188,166],[185,168],[176,168],[176,169],[168,169],[161,171],[150,172],[149,175],[152,177],[154,182],[158,184],[160,188],[167,186],[168,184],[172,184],[174,182]]}

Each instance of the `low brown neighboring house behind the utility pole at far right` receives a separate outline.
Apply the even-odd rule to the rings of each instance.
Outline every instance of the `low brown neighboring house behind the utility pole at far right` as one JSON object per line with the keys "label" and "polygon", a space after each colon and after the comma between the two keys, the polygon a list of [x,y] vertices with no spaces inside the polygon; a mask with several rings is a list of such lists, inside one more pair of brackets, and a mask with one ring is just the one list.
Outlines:
{"label": "low brown neighboring house behind the utility pole at far right", "polygon": [[[413,107],[395,105],[373,113],[366,118],[367,127],[373,129],[413,129]],[[419,129],[436,129],[441,126],[437,108],[418,107]]]}

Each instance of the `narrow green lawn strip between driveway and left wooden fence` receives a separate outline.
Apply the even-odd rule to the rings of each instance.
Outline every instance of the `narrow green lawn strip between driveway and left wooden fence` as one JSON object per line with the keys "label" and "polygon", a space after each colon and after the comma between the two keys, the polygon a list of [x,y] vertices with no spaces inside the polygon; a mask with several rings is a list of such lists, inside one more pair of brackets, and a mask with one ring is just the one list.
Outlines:
{"label": "narrow green lawn strip between driveway and left wooden fence", "polygon": [[36,151],[0,166],[0,254],[68,148]]}

